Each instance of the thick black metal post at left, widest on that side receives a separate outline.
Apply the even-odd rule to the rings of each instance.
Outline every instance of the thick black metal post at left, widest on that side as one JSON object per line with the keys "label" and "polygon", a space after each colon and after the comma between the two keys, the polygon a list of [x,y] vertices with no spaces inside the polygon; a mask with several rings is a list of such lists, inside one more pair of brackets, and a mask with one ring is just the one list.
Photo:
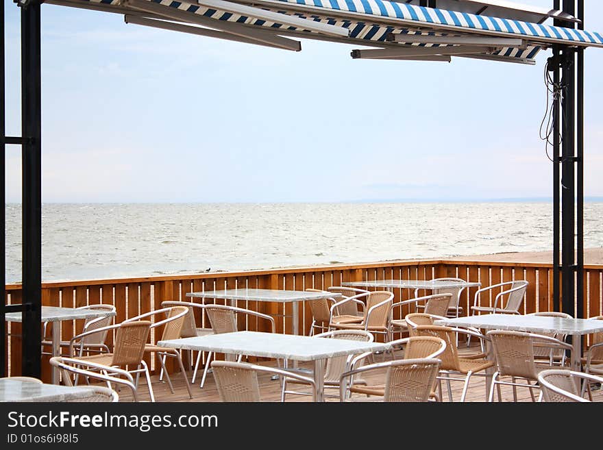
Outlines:
{"label": "thick black metal post at left, widest on that side", "polygon": [[40,0],[21,8],[21,129],[23,144],[22,373],[40,377],[42,316],[42,102]]}

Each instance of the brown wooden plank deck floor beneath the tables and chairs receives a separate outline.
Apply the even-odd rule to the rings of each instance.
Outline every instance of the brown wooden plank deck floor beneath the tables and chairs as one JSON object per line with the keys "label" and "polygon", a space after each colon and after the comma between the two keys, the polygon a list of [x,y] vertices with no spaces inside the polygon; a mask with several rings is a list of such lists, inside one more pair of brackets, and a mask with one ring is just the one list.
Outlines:
{"label": "brown wooden plank deck floor beneath the tables and chairs", "polygon": [[[275,366],[274,361],[263,361],[263,362],[254,362],[255,364],[264,364],[268,366]],[[300,367],[310,368],[308,364],[300,364]],[[190,388],[193,393],[193,398],[190,399],[188,397],[188,392],[186,392],[186,386],[184,384],[184,379],[179,371],[175,373],[171,373],[171,381],[174,387],[174,393],[171,393],[169,389],[169,385],[166,382],[161,382],[159,380],[158,375],[154,375],[151,377],[153,393],[155,395],[155,399],[158,402],[219,402],[219,395],[216,389],[216,384],[214,382],[214,377],[211,373],[208,374],[205,385],[203,388],[199,387],[199,382],[201,381],[201,373],[202,369],[199,369],[197,373],[197,378],[195,379],[195,384],[191,384]],[[187,376],[190,381],[193,372],[188,371]],[[379,384],[382,383],[382,377],[379,374],[372,375],[370,377],[365,377],[369,384]],[[260,393],[262,395],[262,401],[267,402],[278,402],[280,401],[280,382],[278,380],[272,380],[270,375],[260,375]],[[469,383],[469,389],[467,390],[467,402],[484,402],[487,400],[487,392],[489,391],[489,386],[487,386],[487,379],[480,376],[473,376],[471,382]],[[460,395],[463,388],[463,382],[452,382],[452,397],[453,401],[460,401]],[[502,401],[503,402],[513,402],[513,389],[507,386],[502,386]],[[149,391],[146,387],[146,384],[143,380],[140,380],[140,388],[139,388],[139,401],[149,401]],[[327,390],[328,393],[334,393],[339,395],[339,391],[335,390]],[[538,397],[539,391],[535,390],[535,396]],[[593,401],[603,401],[603,390],[593,390]],[[528,388],[518,388],[517,390],[517,401],[519,402],[531,402],[532,399],[530,397],[530,390]],[[120,401],[132,401],[132,397],[125,390],[121,390],[120,392]],[[304,395],[287,395],[287,402],[299,402],[299,401],[312,401],[312,397],[304,396]],[[339,398],[328,398],[327,401],[339,401]],[[447,395],[447,390],[444,386],[444,395],[443,402],[447,403],[450,401]],[[497,396],[495,395],[495,401],[497,401]]]}

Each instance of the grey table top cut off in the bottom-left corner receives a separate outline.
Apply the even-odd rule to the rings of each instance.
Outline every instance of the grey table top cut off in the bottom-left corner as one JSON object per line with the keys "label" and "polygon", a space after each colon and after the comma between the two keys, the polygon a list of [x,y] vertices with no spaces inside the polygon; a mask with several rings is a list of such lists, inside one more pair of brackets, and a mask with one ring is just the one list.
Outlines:
{"label": "grey table top cut off in the bottom-left corner", "polygon": [[88,386],[58,386],[19,379],[0,379],[0,402],[3,401],[66,401],[90,397]]}

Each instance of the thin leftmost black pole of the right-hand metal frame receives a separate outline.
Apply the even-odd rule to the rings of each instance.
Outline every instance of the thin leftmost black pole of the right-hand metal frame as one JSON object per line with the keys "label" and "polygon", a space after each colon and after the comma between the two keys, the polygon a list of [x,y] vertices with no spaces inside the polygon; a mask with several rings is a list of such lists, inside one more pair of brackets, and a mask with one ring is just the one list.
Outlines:
{"label": "thin leftmost black pole of the right-hand metal frame", "polygon": [[[554,10],[561,8],[560,0],[555,0],[553,5]],[[560,21],[554,21],[554,25],[561,25]],[[558,45],[553,45],[553,84],[554,88],[559,86],[561,77],[559,73],[560,51]],[[561,297],[559,292],[560,287],[560,262],[559,255],[560,247],[560,222],[561,200],[559,189],[561,179],[559,178],[559,151],[561,142],[561,129],[559,127],[559,116],[561,108],[561,99],[557,95],[553,97],[553,310],[561,311]]]}

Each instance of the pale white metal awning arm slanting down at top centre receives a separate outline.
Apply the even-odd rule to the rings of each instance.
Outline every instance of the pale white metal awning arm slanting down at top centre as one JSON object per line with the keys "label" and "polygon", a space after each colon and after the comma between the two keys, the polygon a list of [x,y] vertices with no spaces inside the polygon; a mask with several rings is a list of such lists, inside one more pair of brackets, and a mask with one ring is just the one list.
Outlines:
{"label": "pale white metal awning arm slanting down at top centre", "polygon": [[281,23],[282,25],[290,25],[291,27],[307,29],[310,32],[329,34],[331,36],[343,36],[344,38],[347,38],[347,36],[349,36],[349,29],[344,27],[337,27],[336,25],[329,25],[328,23],[315,22],[310,19],[301,18],[298,16],[289,16],[288,14],[281,14],[280,12],[262,10],[261,8],[254,8],[252,6],[241,5],[241,3],[233,3],[232,1],[197,0],[197,3],[199,3],[199,5],[204,5],[208,8],[235,12],[236,14],[241,14],[243,16],[261,18],[264,21]]}

